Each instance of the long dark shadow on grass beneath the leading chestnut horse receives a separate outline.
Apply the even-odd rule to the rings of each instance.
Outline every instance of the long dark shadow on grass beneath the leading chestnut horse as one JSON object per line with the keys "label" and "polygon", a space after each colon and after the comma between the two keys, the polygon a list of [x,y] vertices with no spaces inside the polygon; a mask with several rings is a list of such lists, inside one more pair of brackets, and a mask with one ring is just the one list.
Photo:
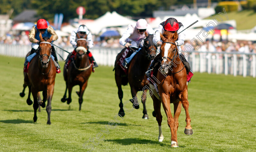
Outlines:
{"label": "long dark shadow on grass beneath the leading chestnut horse", "polygon": [[[157,140],[157,139],[156,139]],[[110,141],[110,142],[115,142],[116,144],[121,144],[121,145],[131,145],[131,144],[158,144],[160,146],[167,146],[171,147],[171,143],[165,144],[163,142],[158,142],[158,141],[153,141],[153,140],[148,140],[148,139],[137,139],[137,138],[126,138],[126,139],[107,139],[104,141]],[[184,147],[184,146],[180,146]]]}

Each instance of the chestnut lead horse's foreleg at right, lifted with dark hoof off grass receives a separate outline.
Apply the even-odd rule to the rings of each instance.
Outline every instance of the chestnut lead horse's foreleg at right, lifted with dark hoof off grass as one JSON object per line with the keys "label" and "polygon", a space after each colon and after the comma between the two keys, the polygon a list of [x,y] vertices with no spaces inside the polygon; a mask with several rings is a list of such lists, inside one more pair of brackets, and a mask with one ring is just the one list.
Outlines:
{"label": "chestnut lead horse's foreleg at right, lifted with dark hoof off grass", "polygon": [[184,133],[186,135],[192,135],[193,131],[192,131],[192,127],[190,125],[190,116],[189,116],[189,112],[188,112],[188,107],[189,107],[189,102],[187,100],[187,90],[184,90],[183,93],[179,96],[180,97],[180,101],[182,103],[183,108],[185,109],[186,112],[186,127],[184,130]]}

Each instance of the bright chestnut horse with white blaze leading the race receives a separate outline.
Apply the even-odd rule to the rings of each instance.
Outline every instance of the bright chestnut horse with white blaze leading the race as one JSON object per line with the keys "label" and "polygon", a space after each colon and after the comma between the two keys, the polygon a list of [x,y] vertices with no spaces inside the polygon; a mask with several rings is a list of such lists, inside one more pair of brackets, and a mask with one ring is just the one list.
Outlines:
{"label": "bright chestnut horse with white blaze leading the race", "polygon": [[[166,35],[165,37],[163,35]],[[185,66],[181,62],[175,41],[178,39],[177,32],[169,31],[161,34],[162,45],[160,47],[161,70],[157,70],[156,78],[160,82],[157,86],[161,100],[156,96],[151,96],[154,103],[154,112],[158,122],[159,136],[158,141],[164,139],[162,135],[162,115],[161,103],[167,117],[167,123],[171,130],[171,147],[179,147],[177,141],[177,130],[179,126],[178,118],[181,112],[181,105],[186,112],[186,127],[184,133],[191,135],[193,133],[190,125],[190,116],[188,112],[188,92],[187,92],[187,73]],[[172,117],[170,103],[174,105],[174,117]],[[153,112],[153,113],[154,113]]]}

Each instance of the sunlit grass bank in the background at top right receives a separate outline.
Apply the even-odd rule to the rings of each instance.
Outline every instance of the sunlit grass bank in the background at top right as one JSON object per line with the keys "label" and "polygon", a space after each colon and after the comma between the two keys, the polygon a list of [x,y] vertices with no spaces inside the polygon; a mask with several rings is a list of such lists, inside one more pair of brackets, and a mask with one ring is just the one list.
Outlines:
{"label": "sunlit grass bank in the background at top right", "polygon": [[[218,12],[217,12],[218,13]],[[221,13],[224,13],[223,11]],[[219,14],[215,14],[219,15]],[[213,17],[215,15],[212,15]],[[256,25],[256,13],[253,10],[244,10],[240,12],[227,12],[228,20],[236,20],[236,29],[237,30],[244,30],[244,29],[252,29]],[[227,18],[223,15],[219,15],[223,21],[226,21]],[[207,19],[211,19],[208,17]],[[220,21],[217,18],[218,21]]]}

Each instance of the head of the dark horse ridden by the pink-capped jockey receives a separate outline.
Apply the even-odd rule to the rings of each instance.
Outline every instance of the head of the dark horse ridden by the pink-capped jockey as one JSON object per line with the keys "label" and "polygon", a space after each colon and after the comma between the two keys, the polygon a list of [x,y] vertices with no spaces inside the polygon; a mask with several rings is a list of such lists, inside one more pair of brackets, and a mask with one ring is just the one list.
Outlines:
{"label": "head of the dark horse ridden by the pink-capped jockey", "polygon": [[148,35],[147,32],[145,32],[146,39],[144,39],[144,48],[147,53],[148,59],[152,60],[156,56],[156,50],[157,46],[153,42],[153,34]]}

